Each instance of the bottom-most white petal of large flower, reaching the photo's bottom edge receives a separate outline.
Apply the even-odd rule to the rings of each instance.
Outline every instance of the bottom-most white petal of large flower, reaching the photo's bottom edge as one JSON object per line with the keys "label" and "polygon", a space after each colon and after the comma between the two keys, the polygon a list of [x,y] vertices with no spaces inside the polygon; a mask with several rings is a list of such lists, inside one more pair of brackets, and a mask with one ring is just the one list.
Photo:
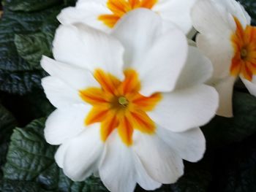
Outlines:
{"label": "bottom-most white petal of large flower, reaching the photo's bottom edge", "polygon": [[108,138],[104,158],[99,166],[99,176],[112,192],[132,192],[136,178],[132,150],[121,142],[116,130]]}

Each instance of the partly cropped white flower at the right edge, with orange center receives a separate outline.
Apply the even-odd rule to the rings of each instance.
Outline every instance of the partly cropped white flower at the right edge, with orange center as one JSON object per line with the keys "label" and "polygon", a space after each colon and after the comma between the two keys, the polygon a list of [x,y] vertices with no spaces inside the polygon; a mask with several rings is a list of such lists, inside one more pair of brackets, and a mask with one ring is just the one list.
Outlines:
{"label": "partly cropped white flower at the right edge, with orange center", "polygon": [[192,9],[200,34],[197,47],[214,65],[212,85],[219,92],[218,115],[233,116],[233,85],[238,77],[256,96],[256,28],[237,1],[200,0]]}

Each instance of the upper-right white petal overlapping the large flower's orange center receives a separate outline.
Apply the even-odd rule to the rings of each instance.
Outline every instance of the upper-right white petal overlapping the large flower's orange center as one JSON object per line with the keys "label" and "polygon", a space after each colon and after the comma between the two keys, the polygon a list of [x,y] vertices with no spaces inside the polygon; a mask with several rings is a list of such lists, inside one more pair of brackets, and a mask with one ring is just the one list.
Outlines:
{"label": "upper-right white petal overlapping the large flower's orange center", "polygon": [[173,28],[156,40],[141,64],[134,66],[140,75],[145,96],[172,91],[187,60],[187,39]]}

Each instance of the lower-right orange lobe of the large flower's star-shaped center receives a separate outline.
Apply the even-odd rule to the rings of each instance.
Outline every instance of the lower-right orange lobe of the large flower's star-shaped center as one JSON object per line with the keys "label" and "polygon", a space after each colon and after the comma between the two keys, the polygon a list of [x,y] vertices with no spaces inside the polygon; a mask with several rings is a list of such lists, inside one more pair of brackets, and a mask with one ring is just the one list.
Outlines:
{"label": "lower-right orange lobe of the large flower's star-shaped center", "polygon": [[154,134],[156,126],[154,121],[148,117],[146,112],[136,110],[134,112],[130,112],[128,117],[134,128],[146,134]]}

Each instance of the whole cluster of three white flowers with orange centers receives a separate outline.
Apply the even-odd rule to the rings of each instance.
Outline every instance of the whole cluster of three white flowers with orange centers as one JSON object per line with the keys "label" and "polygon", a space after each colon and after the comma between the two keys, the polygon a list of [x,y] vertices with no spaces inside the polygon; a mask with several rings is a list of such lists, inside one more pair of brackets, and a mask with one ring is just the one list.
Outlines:
{"label": "whole cluster of three white flowers with orange centers", "polygon": [[45,139],[72,180],[175,183],[206,150],[199,126],[232,116],[237,77],[256,94],[256,29],[234,0],[79,0],[58,19],[55,59],[41,61],[56,107]]}

